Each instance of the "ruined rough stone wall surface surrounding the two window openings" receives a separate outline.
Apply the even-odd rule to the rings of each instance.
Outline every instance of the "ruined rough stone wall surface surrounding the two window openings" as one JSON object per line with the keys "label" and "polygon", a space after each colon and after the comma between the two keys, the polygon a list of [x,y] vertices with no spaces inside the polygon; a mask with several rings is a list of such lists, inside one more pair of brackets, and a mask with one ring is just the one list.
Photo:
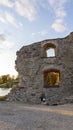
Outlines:
{"label": "ruined rough stone wall surface surrounding the two window openings", "polygon": [[[55,49],[55,57],[47,57],[46,49]],[[73,33],[61,39],[44,40],[22,47],[17,52],[20,87],[25,89],[26,102],[40,103],[44,92],[47,102],[55,102],[73,94]],[[44,71],[60,72],[59,87],[44,87]],[[21,96],[22,98],[22,96]]]}

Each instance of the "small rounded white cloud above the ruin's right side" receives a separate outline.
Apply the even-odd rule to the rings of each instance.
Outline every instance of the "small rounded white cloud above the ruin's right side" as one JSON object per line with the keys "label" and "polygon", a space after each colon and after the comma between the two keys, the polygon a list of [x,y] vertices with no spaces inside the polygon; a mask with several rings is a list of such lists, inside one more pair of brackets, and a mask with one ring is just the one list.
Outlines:
{"label": "small rounded white cloud above the ruin's right side", "polygon": [[64,24],[62,19],[57,19],[53,24],[52,28],[56,32],[64,32],[66,30],[66,25]]}

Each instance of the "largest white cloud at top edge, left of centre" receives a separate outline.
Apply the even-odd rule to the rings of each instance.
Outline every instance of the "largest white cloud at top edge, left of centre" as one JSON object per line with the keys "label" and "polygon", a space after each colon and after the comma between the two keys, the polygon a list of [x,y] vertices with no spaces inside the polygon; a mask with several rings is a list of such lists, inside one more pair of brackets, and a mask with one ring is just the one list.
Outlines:
{"label": "largest white cloud at top edge, left of centre", "polygon": [[26,17],[29,21],[35,20],[36,15],[36,1],[35,0],[16,0],[15,10],[21,16]]}

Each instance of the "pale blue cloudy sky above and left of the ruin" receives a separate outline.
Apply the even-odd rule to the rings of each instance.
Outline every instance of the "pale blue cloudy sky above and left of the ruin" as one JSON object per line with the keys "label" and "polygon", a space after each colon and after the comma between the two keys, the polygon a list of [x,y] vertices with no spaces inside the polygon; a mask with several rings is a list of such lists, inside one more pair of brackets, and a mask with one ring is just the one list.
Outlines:
{"label": "pale blue cloudy sky above and left of the ruin", "polygon": [[16,52],[73,31],[73,0],[0,0],[0,75],[17,75]]}

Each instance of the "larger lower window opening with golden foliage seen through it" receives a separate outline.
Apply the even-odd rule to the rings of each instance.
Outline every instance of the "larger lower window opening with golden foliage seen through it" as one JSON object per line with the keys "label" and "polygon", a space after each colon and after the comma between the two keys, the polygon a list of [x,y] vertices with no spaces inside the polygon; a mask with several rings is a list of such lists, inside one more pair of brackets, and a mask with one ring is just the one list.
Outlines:
{"label": "larger lower window opening with golden foliage seen through it", "polygon": [[44,71],[44,87],[59,87],[60,85],[60,71],[50,69]]}

